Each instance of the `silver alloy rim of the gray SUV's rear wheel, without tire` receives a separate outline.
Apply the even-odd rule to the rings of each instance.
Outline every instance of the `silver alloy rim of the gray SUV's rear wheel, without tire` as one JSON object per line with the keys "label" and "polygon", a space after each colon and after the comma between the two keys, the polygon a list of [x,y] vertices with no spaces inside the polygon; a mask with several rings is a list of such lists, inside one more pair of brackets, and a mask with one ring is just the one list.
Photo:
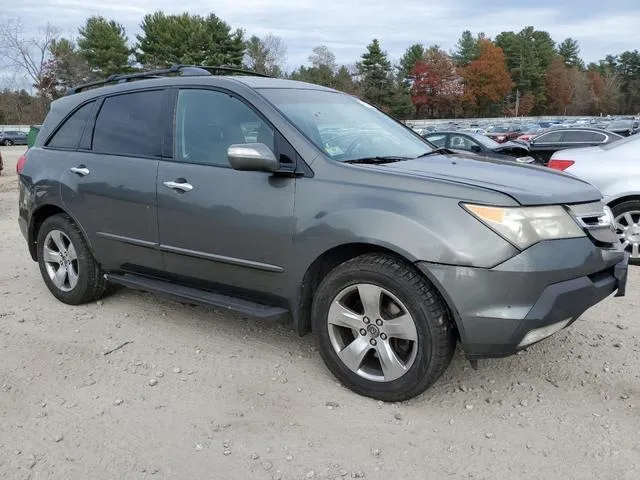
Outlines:
{"label": "silver alloy rim of the gray SUV's rear wheel, without tire", "polygon": [[78,284],[78,254],[69,237],[60,230],[51,230],[45,237],[42,254],[51,282],[63,292],[73,290]]}

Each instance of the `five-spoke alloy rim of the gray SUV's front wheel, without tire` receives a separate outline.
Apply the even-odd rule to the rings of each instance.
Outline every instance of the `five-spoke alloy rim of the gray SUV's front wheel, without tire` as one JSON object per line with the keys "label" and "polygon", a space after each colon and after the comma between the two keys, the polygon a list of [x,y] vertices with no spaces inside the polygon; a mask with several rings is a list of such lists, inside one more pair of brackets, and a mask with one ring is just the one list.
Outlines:
{"label": "five-spoke alloy rim of the gray SUV's front wheel, without tire", "polygon": [[416,359],[418,332],[412,315],[378,285],[360,283],[340,291],[331,302],[327,323],[338,358],[362,378],[397,380]]}

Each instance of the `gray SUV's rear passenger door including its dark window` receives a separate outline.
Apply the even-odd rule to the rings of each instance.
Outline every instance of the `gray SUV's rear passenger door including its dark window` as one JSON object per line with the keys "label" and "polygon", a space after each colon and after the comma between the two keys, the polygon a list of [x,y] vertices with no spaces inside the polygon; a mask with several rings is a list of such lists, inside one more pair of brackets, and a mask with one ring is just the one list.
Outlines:
{"label": "gray SUV's rear passenger door including its dark window", "polygon": [[80,144],[64,152],[63,203],[106,269],[163,270],[156,177],[170,128],[167,90],[114,95],[95,102]]}

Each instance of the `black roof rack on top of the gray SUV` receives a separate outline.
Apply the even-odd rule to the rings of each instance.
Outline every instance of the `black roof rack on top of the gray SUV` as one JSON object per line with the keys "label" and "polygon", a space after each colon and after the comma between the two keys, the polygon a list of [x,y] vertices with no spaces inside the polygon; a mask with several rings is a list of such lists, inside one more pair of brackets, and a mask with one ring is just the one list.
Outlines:
{"label": "black roof rack on top of the gray SUV", "polygon": [[225,75],[230,73],[240,73],[243,75],[251,75],[255,77],[269,77],[269,75],[263,75],[262,73],[253,72],[251,70],[244,70],[242,68],[231,67],[227,65],[221,66],[201,66],[201,65],[172,65],[169,68],[162,68],[158,70],[149,70],[146,72],[136,72],[127,74],[114,74],[109,75],[104,80],[97,80],[95,82],[89,82],[76,87],[67,89],[66,95],[73,95],[79,93],[88,88],[99,87],[108,85],[111,83],[126,83],[131,80],[145,80],[151,78],[161,78],[169,75],[179,74],[181,76],[211,76],[211,75]]}

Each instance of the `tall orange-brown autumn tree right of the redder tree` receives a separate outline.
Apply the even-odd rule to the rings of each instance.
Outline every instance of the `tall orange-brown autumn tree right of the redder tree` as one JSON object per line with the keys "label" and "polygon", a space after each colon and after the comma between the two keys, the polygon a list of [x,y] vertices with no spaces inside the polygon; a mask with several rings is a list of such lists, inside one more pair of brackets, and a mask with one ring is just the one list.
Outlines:
{"label": "tall orange-brown autumn tree right of the redder tree", "polygon": [[489,40],[479,42],[480,55],[459,73],[464,84],[464,101],[476,115],[488,114],[511,91],[513,81],[505,65],[504,52]]}

